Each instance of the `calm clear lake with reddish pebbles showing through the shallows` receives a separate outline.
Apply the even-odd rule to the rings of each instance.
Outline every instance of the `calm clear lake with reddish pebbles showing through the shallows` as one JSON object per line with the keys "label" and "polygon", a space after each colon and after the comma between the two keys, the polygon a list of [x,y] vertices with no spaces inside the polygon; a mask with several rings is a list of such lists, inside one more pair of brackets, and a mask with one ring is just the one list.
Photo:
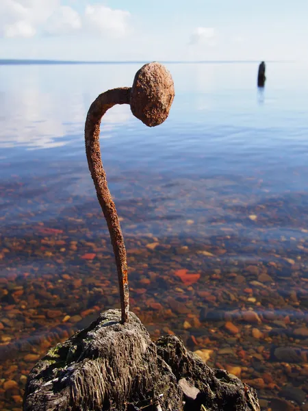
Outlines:
{"label": "calm clear lake with reddish pebbles showing through the shallows", "polygon": [[[140,66],[0,65],[1,410],[21,410],[49,347],[119,307],[84,122]],[[308,64],[268,62],[264,89],[258,62],[166,66],[165,123],[118,105],[101,125],[131,310],[254,386],[263,410],[307,410]]]}

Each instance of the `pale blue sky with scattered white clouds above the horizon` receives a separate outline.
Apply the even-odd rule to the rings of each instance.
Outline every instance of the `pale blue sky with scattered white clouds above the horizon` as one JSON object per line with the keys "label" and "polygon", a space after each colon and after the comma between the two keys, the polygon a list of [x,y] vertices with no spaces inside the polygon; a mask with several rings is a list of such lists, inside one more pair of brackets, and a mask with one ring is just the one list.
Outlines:
{"label": "pale blue sky with scattered white clouds above the horizon", "polygon": [[0,58],[308,60],[308,0],[0,0]]}

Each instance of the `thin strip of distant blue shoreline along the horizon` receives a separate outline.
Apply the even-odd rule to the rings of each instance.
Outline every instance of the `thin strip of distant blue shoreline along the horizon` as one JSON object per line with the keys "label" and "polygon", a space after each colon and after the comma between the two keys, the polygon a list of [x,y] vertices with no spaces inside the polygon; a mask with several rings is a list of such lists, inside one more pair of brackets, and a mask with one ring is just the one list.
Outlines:
{"label": "thin strip of distant blue shoreline along the horizon", "polygon": [[[157,61],[157,60],[153,60]],[[146,64],[146,60],[49,60],[49,59],[0,59],[0,66],[30,65],[30,64]],[[230,63],[259,63],[260,60],[161,60],[162,64],[230,64]],[[270,63],[292,63],[295,60],[268,60]]]}

